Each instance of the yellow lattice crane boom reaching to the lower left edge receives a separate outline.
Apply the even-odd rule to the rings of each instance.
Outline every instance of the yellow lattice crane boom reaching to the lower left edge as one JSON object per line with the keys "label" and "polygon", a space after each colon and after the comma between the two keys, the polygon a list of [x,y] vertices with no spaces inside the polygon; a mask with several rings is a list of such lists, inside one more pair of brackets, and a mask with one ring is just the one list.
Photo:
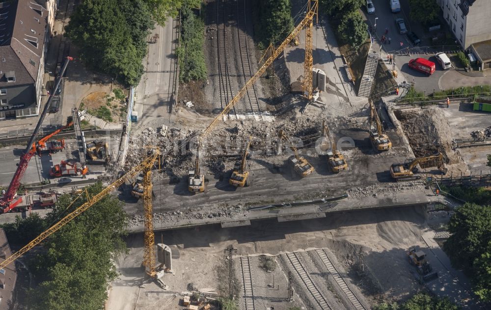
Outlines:
{"label": "yellow lattice crane boom reaching to the lower left edge", "polygon": [[[118,180],[110,184],[108,187],[106,187],[104,190],[102,190],[99,194],[95,195],[94,197],[90,198],[88,196],[88,193],[85,191],[87,195],[87,202],[82,204],[80,207],[69,213],[67,216],[59,220],[55,225],[51,226],[48,228],[46,231],[41,233],[39,236],[34,238],[31,242],[29,242],[25,247],[17,251],[16,253],[12,254],[10,257],[7,257],[4,261],[0,263],[0,269],[5,268],[8,264],[12,263],[14,260],[22,256],[24,253],[38,245],[41,241],[46,239],[48,236],[53,234],[55,231],[63,227],[65,224],[68,222],[72,221],[75,219],[77,216],[82,214],[85,210],[90,208],[94,203],[98,202],[101,200],[103,197],[108,195],[112,190],[115,190],[119,186],[123,185],[126,180],[128,180],[130,177],[134,176],[138,171],[145,170],[145,169],[150,169],[154,162],[157,160],[157,158],[160,155],[160,151],[156,150],[152,156],[148,156],[141,162],[138,166],[134,167],[130,171],[128,171],[125,175],[120,177]],[[146,183],[144,183],[146,184]],[[150,191],[151,193],[151,191]],[[82,195],[82,194],[81,194]]]}

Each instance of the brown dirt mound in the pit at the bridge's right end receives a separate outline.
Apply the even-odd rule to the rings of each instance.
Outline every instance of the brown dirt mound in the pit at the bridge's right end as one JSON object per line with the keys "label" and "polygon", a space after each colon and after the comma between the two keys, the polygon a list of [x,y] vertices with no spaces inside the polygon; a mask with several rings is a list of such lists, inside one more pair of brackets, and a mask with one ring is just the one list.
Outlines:
{"label": "brown dirt mound in the pit at the bridge's right end", "polygon": [[[439,108],[395,110],[394,114],[401,121],[416,157],[441,152],[447,164],[462,162],[462,158],[452,150],[452,138],[449,135],[451,129]],[[427,167],[432,166],[434,163],[428,164]]]}

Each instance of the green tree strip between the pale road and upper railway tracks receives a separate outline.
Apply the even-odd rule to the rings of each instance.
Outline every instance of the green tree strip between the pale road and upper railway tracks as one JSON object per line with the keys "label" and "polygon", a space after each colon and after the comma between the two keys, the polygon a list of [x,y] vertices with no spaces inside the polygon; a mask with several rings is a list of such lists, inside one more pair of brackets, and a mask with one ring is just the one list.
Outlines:
{"label": "green tree strip between the pale road and upper railway tracks", "polygon": [[185,0],[181,8],[181,46],[177,49],[179,57],[179,80],[205,80],[207,76],[204,55],[204,28],[201,18],[195,10],[200,0]]}

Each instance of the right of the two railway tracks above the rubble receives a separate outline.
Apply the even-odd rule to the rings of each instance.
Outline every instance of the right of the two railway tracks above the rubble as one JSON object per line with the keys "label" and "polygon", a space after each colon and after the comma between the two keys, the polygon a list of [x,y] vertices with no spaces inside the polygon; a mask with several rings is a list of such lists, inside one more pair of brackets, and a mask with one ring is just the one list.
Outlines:
{"label": "right of the two railway tracks above the rubble", "polygon": [[[237,34],[239,38],[242,71],[244,72],[244,83],[246,83],[252,77],[249,47],[247,43],[246,0],[237,0]],[[243,51],[245,51],[245,53],[243,53]],[[261,113],[259,100],[257,99],[256,86],[254,84],[252,85],[252,88],[247,88],[247,99],[249,101],[252,113],[254,113],[254,109],[256,109],[256,107],[257,112]]]}

